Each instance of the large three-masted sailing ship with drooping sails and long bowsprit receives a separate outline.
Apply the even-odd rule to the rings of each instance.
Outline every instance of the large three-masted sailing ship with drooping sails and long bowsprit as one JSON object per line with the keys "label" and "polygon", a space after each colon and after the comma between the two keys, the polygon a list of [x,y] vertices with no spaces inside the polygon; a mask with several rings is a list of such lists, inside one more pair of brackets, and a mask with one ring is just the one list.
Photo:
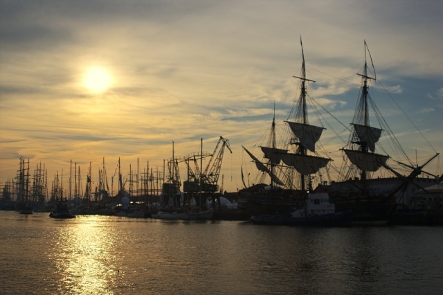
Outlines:
{"label": "large three-masted sailing ship with drooping sails and long bowsprit", "polygon": [[[370,96],[370,83],[376,80],[376,75],[366,42],[364,48],[363,73],[357,74],[361,77],[359,100],[350,127],[329,113],[350,134],[347,143],[342,143],[345,146],[340,149],[344,159],[338,161],[341,167],[336,168],[333,159],[318,152],[323,149],[322,154],[328,155],[336,150],[325,150],[320,143],[325,130],[320,115],[315,119],[316,124],[309,122],[311,118],[308,115],[319,114],[317,107],[323,107],[309,94],[308,86],[315,81],[306,78],[302,48],[301,73],[294,76],[300,81],[300,95],[289,111],[289,117],[284,120],[287,135],[279,145],[275,136],[274,115],[269,140],[266,145],[260,145],[262,157],[256,157],[244,147],[248,157],[266,178],[253,186],[246,186],[244,182],[245,188],[239,191],[239,208],[251,215],[284,214],[293,208],[300,208],[300,204],[315,188],[318,192],[329,194],[336,211],[352,211],[355,222],[385,222],[398,204],[409,201],[415,190],[439,182],[437,175],[424,170],[438,153],[435,152],[424,163],[414,163],[381,116]],[[372,69],[368,66],[368,57]],[[374,125],[371,119],[377,121],[379,126]],[[381,145],[381,139],[390,139],[389,147],[397,147],[394,152],[396,160],[386,152],[388,149]],[[331,179],[331,172],[338,175],[335,180]],[[266,183],[266,180],[269,182]]]}

